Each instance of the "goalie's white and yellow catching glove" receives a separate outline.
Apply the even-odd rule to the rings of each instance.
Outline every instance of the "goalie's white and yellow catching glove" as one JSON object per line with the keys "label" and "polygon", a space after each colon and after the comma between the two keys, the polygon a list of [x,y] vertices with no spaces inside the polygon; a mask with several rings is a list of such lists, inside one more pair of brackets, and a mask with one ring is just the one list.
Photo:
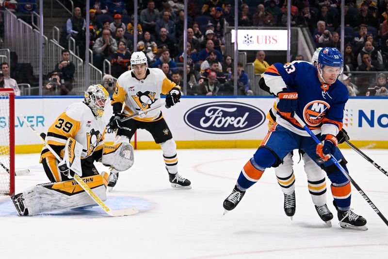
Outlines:
{"label": "goalie's white and yellow catching glove", "polygon": [[128,142],[104,145],[101,162],[119,172],[128,170],[134,162],[132,145]]}

